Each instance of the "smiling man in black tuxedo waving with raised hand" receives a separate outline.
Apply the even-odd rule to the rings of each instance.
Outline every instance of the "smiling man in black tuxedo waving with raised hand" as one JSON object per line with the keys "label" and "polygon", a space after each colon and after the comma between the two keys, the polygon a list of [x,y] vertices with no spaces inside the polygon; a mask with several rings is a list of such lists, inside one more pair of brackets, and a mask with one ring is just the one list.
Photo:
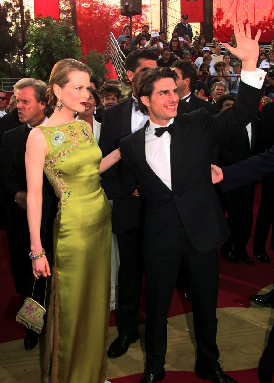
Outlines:
{"label": "smiling man in black tuxedo waving with raised hand", "polygon": [[235,23],[235,29],[238,47],[228,49],[243,62],[235,106],[218,115],[202,108],[176,117],[176,72],[148,69],[139,79],[137,98],[149,121],[121,139],[123,172],[102,181],[108,198],[127,195],[140,185],[146,201],[146,370],[140,383],[157,383],[165,376],[167,314],[181,261],[192,297],[195,373],[214,383],[235,382],[220,368],[215,340],[217,248],[230,232],[212,185],[210,161],[218,141],[233,136],[255,117],[264,77],[263,71],[256,73],[260,31],[252,40],[249,24],[247,37],[243,23]]}

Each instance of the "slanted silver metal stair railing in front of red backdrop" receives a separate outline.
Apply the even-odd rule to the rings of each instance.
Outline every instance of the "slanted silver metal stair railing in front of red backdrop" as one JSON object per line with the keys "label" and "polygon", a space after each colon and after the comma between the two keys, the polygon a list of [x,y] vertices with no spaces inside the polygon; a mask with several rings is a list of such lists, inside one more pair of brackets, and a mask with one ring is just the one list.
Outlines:
{"label": "slanted silver metal stair railing in front of red backdrop", "polygon": [[113,67],[116,70],[118,79],[123,82],[123,72],[125,70],[125,55],[121,51],[119,44],[117,43],[114,35],[110,32],[106,42],[106,59],[110,59]]}

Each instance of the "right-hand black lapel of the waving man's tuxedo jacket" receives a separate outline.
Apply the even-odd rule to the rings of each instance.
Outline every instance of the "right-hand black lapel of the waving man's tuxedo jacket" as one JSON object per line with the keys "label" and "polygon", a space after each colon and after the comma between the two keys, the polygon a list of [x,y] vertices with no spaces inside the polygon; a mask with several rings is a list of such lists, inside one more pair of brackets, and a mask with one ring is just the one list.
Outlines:
{"label": "right-hand black lapel of the waving man's tuxedo jacket", "polygon": [[[195,96],[196,97],[196,96]],[[171,136],[170,146],[170,163],[171,163],[171,183],[176,182],[176,175],[180,165],[180,159],[183,154],[185,141],[189,134],[190,125],[180,123],[180,126],[176,121],[173,123],[175,132]]]}

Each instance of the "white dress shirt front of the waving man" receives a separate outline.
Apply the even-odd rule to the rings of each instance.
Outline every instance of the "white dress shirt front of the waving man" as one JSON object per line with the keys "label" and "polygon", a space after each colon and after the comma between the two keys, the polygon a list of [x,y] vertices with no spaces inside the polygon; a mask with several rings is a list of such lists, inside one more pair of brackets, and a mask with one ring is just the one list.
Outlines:
{"label": "white dress shirt front of the waving man", "polygon": [[[172,118],[166,126],[173,123]],[[149,126],[145,131],[145,153],[146,161],[153,172],[166,184],[171,190],[171,167],[170,167],[170,144],[171,135],[164,132],[161,137],[155,136],[155,128],[161,125],[154,124],[149,121]]]}

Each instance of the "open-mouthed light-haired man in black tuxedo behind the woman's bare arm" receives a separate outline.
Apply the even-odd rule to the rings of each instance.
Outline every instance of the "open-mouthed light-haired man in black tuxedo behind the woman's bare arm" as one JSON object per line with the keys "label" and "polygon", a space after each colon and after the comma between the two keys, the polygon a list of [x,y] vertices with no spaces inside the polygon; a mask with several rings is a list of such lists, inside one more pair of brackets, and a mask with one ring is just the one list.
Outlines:
{"label": "open-mouthed light-haired man in black tuxedo behind the woman's bare arm", "polygon": [[[43,81],[22,79],[14,85],[18,115],[23,125],[3,134],[2,190],[5,198],[7,237],[11,257],[11,267],[16,290],[23,298],[31,296],[34,276],[32,274],[30,252],[30,233],[26,215],[27,183],[25,170],[25,151],[28,134],[46,117],[46,89]],[[41,239],[44,249],[49,253],[52,246],[53,220],[56,214],[56,197],[46,176],[43,178],[43,208]],[[41,281],[40,281],[41,279]],[[43,302],[45,280],[36,281],[33,298]],[[26,329],[25,349],[31,350],[37,344],[37,334]]]}

